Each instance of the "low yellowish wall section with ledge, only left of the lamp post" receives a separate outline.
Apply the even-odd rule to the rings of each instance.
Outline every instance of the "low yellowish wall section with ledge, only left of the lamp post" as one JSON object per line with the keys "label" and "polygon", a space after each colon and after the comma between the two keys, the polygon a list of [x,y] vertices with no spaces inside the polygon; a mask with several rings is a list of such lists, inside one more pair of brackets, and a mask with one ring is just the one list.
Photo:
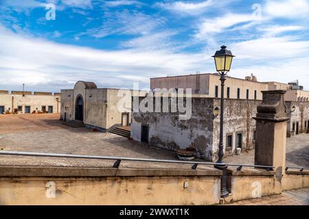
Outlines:
{"label": "low yellowish wall section with ledge, only left of the lamp post", "polygon": [[218,170],[0,168],[1,205],[214,205]]}

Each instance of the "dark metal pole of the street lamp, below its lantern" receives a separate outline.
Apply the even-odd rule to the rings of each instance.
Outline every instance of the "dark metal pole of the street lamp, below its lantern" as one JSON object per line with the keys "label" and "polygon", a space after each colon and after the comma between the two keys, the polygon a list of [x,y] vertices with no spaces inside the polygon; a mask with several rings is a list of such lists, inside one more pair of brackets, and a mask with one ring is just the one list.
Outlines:
{"label": "dark metal pole of the street lamp, below its lantern", "polygon": [[229,196],[229,192],[227,191],[227,165],[225,165],[225,162],[223,160],[223,155],[225,153],[223,152],[223,113],[224,113],[224,103],[225,103],[225,73],[222,72],[220,77],[221,81],[221,104],[220,104],[220,142],[219,142],[219,152],[218,156],[219,159],[216,162],[217,165],[214,167],[222,170],[222,177],[221,177],[221,191],[220,191],[220,196],[221,198],[225,198]]}

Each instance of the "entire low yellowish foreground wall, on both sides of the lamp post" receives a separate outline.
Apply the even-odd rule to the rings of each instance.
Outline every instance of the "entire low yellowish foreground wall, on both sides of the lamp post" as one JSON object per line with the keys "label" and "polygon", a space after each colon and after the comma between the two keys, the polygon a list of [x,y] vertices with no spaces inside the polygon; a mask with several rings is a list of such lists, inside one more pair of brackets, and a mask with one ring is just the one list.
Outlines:
{"label": "entire low yellowish foreground wall, on both sides of the lamp post", "polygon": [[[220,170],[0,167],[0,205],[216,205]],[[309,187],[309,171],[229,170],[227,202]],[[221,202],[222,203],[222,202]]]}

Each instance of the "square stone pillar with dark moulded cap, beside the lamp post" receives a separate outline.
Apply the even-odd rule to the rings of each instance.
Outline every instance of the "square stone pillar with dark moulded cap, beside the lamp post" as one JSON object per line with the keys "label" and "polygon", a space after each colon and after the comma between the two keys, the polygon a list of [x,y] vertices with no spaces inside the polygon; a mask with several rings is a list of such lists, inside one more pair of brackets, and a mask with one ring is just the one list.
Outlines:
{"label": "square stone pillar with dark moulded cap, beside the lamp post", "polygon": [[286,121],[289,118],[286,116],[285,92],[262,91],[263,100],[258,105],[258,114],[254,118],[256,120],[254,164],[275,166],[278,177],[282,177],[286,166]]}

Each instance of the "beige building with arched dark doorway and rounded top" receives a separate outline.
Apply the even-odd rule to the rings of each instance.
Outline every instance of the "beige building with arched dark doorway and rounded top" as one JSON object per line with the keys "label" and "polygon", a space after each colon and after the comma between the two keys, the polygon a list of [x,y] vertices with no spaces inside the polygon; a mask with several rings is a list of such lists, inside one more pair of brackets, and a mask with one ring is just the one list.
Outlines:
{"label": "beige building with arched dark doorway and rounded top", "polygon": [[61,119],[81,121],[101,131],[130,126],[132,92],[78,81],[73,89],[61,90]]}

